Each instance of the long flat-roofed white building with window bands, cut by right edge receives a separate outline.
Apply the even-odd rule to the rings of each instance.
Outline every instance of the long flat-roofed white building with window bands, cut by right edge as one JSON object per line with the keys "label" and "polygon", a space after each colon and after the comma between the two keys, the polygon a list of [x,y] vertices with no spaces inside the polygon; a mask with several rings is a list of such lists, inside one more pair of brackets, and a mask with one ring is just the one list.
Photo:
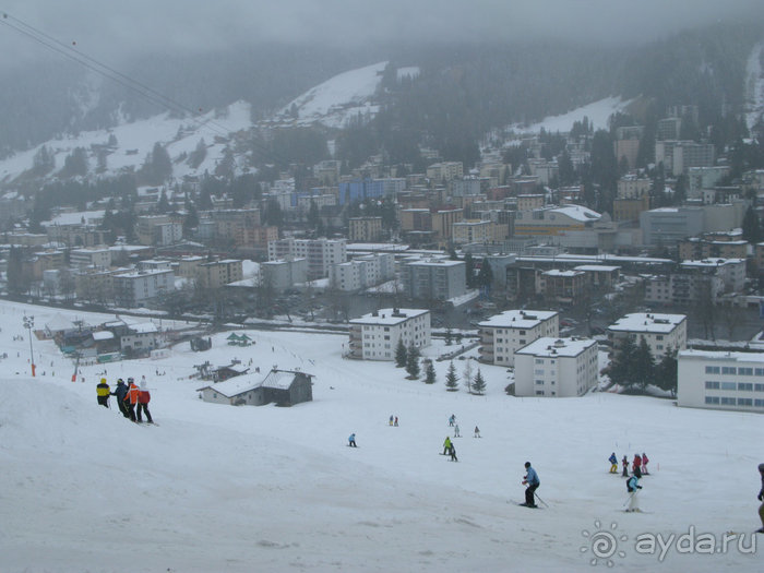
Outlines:
{"label": "long flat-roofed white building with window bands, cut by right edge", "polygon": [[677,361],[679,406],[764,413],[764,353],[682,350]]}

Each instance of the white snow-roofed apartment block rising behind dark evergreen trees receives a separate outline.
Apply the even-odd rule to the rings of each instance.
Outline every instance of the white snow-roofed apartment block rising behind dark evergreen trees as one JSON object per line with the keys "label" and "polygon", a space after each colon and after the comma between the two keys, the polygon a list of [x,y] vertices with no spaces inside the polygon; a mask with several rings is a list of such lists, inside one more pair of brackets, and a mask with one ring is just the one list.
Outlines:
{"label": "white snow-roofed apartment block rising behind dark evergreen trees", "polygon": [[660,360],[668,350],[687,348],[687,325],[684,314],[635,312],[608,326],[608,339],[612,342],[613,349],[618,350],[626,336],[631,336],[636,346],[644,338],[653,358]]}

